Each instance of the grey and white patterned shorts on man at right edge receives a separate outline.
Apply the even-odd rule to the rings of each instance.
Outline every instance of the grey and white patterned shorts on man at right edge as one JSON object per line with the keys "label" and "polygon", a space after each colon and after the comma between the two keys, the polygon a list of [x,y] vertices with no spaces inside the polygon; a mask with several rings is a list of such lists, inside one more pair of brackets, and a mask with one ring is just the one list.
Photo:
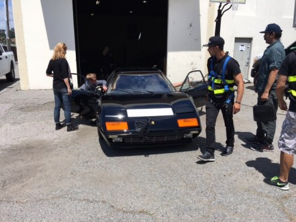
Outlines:
{"label": "grey and white patterned shorts on man at right edge", "polygon": [[286,154],[296,154],[296,113],[287,111],[282,123],[278,148]]}

